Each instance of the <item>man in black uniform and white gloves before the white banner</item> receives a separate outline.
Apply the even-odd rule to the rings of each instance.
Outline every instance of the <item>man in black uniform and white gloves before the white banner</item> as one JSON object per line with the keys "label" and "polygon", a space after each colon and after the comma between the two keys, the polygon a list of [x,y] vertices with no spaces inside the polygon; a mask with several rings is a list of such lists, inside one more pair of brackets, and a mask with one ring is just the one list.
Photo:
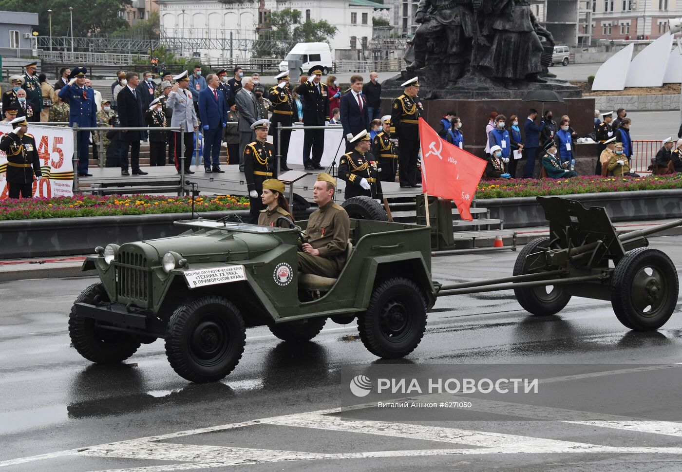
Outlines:
{"label": "man in black uniform and white gloves before the white banner", "polygon": [[33,198],[33,175],[40,180],[40,159],[35,139],[28,134],[26,117],[10,121],[14,130],[2,137],[0,149],[7,155],[7,181],[10,198]]}

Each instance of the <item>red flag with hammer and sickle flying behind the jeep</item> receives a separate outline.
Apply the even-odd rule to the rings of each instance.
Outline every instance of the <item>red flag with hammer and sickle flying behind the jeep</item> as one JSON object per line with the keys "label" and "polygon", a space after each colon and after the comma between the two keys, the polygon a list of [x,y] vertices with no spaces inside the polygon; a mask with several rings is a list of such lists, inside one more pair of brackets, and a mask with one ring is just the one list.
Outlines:
{"label": "red flag with hammer and sickle flying behind the jeep", "polygon": [[451,145],[419,118],[422,192],[455,202],[462,220],[473,220],[469,208],[486,161]]}

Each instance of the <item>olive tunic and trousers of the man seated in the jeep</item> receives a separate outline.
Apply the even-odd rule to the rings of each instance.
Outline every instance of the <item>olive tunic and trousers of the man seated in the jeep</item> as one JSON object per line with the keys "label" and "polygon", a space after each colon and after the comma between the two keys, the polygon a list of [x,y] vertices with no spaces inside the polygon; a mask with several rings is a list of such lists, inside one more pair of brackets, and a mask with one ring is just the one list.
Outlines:
{"label": "olive tunic and trousers of the man seated in the jeep", "polygon": [[298,253],[298,269],[303,274],[336,278],[346,263],[346,247],[351,220],[341,205],[333,201],[313,211],[303,239],[320,252],[313,256]]}

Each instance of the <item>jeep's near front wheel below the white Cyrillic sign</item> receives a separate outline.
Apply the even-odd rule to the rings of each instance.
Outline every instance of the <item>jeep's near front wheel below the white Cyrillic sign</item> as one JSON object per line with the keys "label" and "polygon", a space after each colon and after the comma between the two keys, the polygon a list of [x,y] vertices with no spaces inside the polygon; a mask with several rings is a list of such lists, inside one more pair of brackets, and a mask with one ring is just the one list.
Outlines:
{"label": "jeep's near front wheel below the white Cyrillic sign", "polygon": [[166,357],[180,377],[214,382],[237,366],[245,342],[246,328],[237,307],[222,297],[201,297],[170,316]]}

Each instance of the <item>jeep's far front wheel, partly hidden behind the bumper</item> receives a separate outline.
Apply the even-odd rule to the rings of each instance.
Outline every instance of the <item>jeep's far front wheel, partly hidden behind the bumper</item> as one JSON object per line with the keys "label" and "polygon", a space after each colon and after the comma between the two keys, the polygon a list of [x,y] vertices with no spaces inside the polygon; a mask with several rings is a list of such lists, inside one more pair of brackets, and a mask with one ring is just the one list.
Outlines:
{"label": "jeep's far front wheel, partly hidden behind the bumper", "polygon": [[[76,303],[91,305],[99,301],[109,301],[101,283],[89,286],[76,298]],[[100,321],[78,316],[75,308],[69,315],[69,336],[76,351],[96,364],[123,362],[140,347],[140,342],[131,334],[106,329]]]}

